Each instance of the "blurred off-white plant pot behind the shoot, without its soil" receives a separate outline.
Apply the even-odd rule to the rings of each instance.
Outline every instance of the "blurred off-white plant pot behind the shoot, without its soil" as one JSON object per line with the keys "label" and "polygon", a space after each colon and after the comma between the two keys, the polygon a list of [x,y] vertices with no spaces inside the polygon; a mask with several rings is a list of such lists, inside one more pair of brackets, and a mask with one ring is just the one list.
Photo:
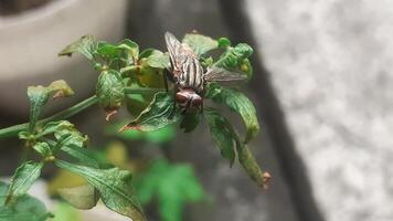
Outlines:
{"label": "blurred off-white plant pot behind the shoot, without its soil", "polygon": [[54,0],[11,17],[0,17],[0,110],[28,116],[28,85],[65,80],[76,96],[93,92],[96,73],[82,56],[59,57],[67,44],[85,34],[117,42],[125,35],[127,0]]}

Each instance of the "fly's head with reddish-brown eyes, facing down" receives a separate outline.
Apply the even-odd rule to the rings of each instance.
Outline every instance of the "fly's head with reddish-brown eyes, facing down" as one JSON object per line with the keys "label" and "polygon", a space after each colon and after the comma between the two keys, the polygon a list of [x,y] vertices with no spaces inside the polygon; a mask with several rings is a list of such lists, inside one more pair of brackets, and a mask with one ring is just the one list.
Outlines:
{"label": "fly's head with reddish-brown eyes, facing down", "polygon": [[180,90],[176,94],[176,102],[184,108],[185,112],[201,110],[203,99],[193,90]]}

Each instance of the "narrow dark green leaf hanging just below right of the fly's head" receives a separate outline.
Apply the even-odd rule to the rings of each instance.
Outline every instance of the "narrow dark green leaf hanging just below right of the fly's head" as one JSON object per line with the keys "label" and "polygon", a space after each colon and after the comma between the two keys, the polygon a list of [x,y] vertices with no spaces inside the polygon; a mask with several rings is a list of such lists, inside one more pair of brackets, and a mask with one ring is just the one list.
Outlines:
{"label": "narrow dark green leaf hanging just below right of the fly's head", "polygon": [[229,159],[232,166],[236,157],[235,149],[242,146],[234,128],[225,117],[213,108],[203,109],[203,115],[221,155]]}

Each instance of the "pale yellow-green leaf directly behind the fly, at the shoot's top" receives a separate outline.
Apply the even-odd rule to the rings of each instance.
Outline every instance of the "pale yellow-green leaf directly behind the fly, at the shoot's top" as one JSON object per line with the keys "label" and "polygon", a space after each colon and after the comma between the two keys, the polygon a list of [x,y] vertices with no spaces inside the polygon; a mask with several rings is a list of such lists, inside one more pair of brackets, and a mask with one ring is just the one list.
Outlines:
{"label": "pale yellow-green leaf directly behind the fly, at the shoot's top", "polygon": [[217,41],[202,34],[185,34],[183,43],[190,45],[197,55],[204,54],[219,46]]}

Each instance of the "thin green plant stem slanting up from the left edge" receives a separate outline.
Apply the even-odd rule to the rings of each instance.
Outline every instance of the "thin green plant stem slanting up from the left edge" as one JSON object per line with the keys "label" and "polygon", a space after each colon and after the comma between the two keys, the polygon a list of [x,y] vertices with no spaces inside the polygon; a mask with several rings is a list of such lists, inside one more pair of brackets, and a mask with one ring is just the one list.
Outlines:
{"label": "thin green plant stem slanting up from the left edge", "polygon": [[[97,96],[96,95],[91,96],[87,99],[84,99],[72,107],[68,107],[57,114],[54,114],[50,117],[39,120],[39,124],[46,124],[49,122],[70,118],[71,116],[74,116],[75,114],[86,109],[87,107],[89,107],[96,103],[97,103]],[[2,128],[2,129],[0,129],[0,139],[18,136],[18,134],[20,131],[26,130],[28,128],[29,128],[29,123]]]}

